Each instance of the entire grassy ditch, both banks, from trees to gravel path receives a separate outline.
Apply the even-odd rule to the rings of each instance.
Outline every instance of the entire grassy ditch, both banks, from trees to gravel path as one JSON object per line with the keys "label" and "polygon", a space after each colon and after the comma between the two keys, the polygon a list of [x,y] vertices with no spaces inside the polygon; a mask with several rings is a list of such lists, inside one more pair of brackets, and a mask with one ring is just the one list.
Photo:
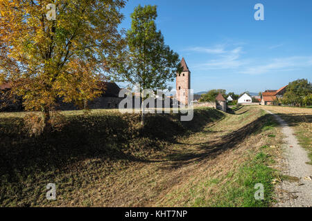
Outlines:
{"label": "entire grassy ditch, both banks, from trees to gravel path", "polygon": [[[281,134],[257,107],[231,114],[69,112],[62,131],[28,137],[0,115],[1,206],[270,206]],[[55,183],[57,200],[46,200]],[[254,184],[265,200],[254,200]]]}

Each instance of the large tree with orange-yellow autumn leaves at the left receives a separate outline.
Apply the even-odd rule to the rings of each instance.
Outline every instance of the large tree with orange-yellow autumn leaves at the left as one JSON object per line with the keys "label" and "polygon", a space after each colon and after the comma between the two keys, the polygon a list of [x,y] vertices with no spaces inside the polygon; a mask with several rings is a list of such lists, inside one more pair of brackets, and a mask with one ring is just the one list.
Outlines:
{"label": "large tree with orange-yellow autumn leaves at the left", "polygon": [[0,80],[10,81],[26,110],[44,113],[46,128],[58,97],[79,102],[101,93],[98,83],[123,47],[123,6],[125,0],[0,1]]}

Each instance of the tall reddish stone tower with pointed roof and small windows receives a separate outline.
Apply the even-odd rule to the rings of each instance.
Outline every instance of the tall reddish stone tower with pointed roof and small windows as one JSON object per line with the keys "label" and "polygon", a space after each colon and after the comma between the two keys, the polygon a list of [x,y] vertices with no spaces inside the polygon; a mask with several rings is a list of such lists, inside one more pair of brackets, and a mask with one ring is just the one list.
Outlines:
{"label": "tall reddish stone tower with pointed roof and small windows", "polygon": [[182,73],[177,73],[177,93],[176,99],[180,104],[189,104],[189,90],[191,89],[191,71],[187,67],[187,63],[184,60],[184,57],[181,61],[181,66],[183,68]]}

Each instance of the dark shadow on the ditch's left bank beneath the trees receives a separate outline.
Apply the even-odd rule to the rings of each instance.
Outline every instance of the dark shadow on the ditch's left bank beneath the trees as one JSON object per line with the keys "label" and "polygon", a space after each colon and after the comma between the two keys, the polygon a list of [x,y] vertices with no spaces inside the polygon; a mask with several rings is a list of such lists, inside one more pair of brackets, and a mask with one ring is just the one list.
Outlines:
{"label": "dark shadow on the ditch's left bank beneath the trees", "polygon": [[46,172],[68,170],[84,160],[96,159],[101,165],[146,161],[150,153],[177,137],[200,131],[222,117],[214,109],[195,110],[191,122],[180,122],[178,114],[146,115],[142,127],[139,114],[78,115],[69,116],[62,131],[40,137],[28,137],[22,119],[0,117],[0,204],[10,197],[9,186],[10,191],[19,189],[28,177],[43,179]]}

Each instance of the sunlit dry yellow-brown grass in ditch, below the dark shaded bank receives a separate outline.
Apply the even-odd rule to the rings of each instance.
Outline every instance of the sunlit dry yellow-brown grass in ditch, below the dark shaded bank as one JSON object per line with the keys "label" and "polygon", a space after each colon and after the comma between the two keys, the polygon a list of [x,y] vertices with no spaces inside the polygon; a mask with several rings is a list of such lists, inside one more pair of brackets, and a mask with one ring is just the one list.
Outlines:
{"label": "sunlit dry yellow-brown grass in ditch, below the dark shaded bank", "polygon": [[[110,113],[114,114],[114,111]],[[70,114],[71,112],[67,113]],[[272,134],[275,136],[269,137]],[[112,142],[111,148],[119,149],[119,143],[114,143],[114,146]],[[141,139],[140,142],[142,146],[146,146],[145,140]],[[244,195],[228,194],[232,189],[241,189],[245,193],[246,186],[238,182],[240,176],[244,175],[241,172],[242,166],[248,165],[259,154],[267,158],[265,162],[261,162],[263,166],[275,164],[280,155],[280,146],[281,134],[270,116],[259,108],[241,107],[233,114],[225,114],[223,119],[206,123],[197,133],[166,142],[162,148],[146,151],[146,147],[142,147],[133,153],[135,160],[123,157],[110,159],[106,156],[103,160],[101,155],[92,152],[81,159],[77,155],[79,159],[73,160],[73,163],[62,170],[46,169],[35,173],[32,177],[27,177],[31,185],[27,185],[28,180],[22,182],[26,184],[23,190],[25,195],[31,193],[36,197],[23,198],[23,202],[18,204],[245,206]],[[44,180],[41,173],[46,173],[42,175]],[[55,201],[44,198],[44,185],[49,182],[55,182],[57,186]],[[250,184],[247,188],[253,191],[254,186]],[[271,192],[268,191],[270,195]],[[20,198],[18,195],[12,197]],[[267,206],[269,203],[270,199],[260,206]]]}

